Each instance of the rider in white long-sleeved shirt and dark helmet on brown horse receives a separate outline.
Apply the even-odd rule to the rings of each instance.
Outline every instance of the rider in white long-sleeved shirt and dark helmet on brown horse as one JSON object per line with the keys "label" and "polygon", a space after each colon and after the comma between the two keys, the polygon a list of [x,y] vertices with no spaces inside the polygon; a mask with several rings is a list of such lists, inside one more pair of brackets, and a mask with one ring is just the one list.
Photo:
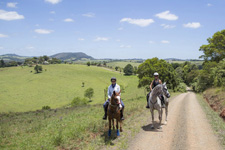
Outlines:
{"label": "rider in white long-sleeved shirt and dark helmet on brown horse", "polygon": [[[109,105],[109,100],[110,100],[110,98],[113,94],[113,91],[115,91],[116,93],[121,95],[120,86],[118,84],[116,84],[116,78],[115,77],[111,78],[111,82],[112,82],[112,84],[108,87],[108,100],[105,101],[105,103],[103,104],[103,108],[104,108],[104,111],[105,111],[105,115],[103,116],[103,120],[107,119],[107,108],[108,108],[108,105]],[[122,104],[121,120],[124,120],[124,118],[123,118],[124,103],[123,103],[122,100],[120,100],[120,101],[121,101],[121,104]]]}

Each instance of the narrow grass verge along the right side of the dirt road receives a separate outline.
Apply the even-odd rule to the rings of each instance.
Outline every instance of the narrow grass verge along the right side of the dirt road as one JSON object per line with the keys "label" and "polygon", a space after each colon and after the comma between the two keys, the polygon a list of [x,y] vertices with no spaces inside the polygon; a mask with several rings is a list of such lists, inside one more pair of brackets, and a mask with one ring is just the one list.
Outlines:
{"label": "narrow grass verge along the right side of the dirt road", "polygon": [[223,148],[225,149],[225,122],[219,114],[212,110],[209,104],[204,100],[202,94],[196,94],[197,99],[206,113],[206,116],[213,128],[214,133],[218,136]]}

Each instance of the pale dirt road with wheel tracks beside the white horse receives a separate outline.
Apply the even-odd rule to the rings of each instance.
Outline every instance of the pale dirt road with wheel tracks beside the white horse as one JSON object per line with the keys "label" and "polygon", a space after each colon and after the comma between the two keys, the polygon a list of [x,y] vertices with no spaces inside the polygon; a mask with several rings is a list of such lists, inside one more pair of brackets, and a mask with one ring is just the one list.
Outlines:
{"label": "pale dirt road with wheel tracks beside the white horse", "polygon": [[[165,114],[163,122],[164,117]],[[152,130],[150,112],[149,118],[141,132],[130,141],[129,150],[222,149],[192,92],[181,94],[170,102],[168,124],[162,129]],[[158,122],[157,113],[155,119]]]}

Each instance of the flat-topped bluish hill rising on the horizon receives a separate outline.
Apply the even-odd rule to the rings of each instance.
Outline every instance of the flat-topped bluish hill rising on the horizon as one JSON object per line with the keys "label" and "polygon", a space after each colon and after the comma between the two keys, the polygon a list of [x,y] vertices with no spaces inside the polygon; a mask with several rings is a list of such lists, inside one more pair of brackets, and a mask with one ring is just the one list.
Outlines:
{"label": "flat-topped bluish hill rising on the horizon", "polygon": [[55,55],[50,56],[51,58],[58,58],[61,60],[70,60],[70,61],[77,61],[82,59],[94,59],[91,56],[88,56],[85,53],[77,52],[77,53],[58,53]]}

